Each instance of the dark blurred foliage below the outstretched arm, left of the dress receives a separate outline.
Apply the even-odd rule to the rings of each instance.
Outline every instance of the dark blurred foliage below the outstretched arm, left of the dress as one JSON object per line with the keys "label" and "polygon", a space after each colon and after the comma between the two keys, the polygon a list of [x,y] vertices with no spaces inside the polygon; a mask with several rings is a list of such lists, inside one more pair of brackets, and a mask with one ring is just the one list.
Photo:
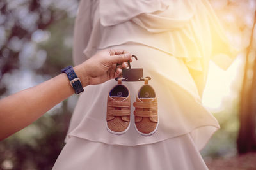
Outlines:
{"label": "dark blurred foliage below the outstretched arm, left of the dress", "polygon": [[45,114],[33,124],[0,143],[0,169],[9,162],[12,169],[52,169],[64,146],[71,114],[67,104],[57,114]]}

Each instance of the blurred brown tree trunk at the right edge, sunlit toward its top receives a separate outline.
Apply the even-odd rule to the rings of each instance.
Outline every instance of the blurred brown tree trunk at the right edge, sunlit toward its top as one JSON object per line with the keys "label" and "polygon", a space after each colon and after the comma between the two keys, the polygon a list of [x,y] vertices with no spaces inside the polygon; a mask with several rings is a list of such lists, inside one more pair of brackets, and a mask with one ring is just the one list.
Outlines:
{"label": "blurred brown tree trunk at the right edge, sunlit toward its top", "polygon": [[239,153],[256,152],[256,59],[255,53],[252,52],[255,23],[256,10],[250,36],[250,45],[246,52],[243,87],[241,89],[240,129],[237,138],[237,150]]}

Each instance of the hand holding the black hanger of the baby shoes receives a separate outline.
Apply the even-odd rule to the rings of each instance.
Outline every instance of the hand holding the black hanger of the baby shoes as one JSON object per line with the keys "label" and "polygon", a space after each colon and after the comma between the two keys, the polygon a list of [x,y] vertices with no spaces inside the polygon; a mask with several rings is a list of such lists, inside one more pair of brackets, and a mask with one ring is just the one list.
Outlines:
{"label": "hand holding the black hanger of the baby shoes", "polygon": [[[90,59],[79,65],[83,69],[82,84],[86,81],[86,85],[96,85],[104,83],[111,78],[121,77],[122,68],[128,66],[127,61],[132,62],[131,53],[125,50],[102,50]],[[116,69],[116,63],[118,68]]]}

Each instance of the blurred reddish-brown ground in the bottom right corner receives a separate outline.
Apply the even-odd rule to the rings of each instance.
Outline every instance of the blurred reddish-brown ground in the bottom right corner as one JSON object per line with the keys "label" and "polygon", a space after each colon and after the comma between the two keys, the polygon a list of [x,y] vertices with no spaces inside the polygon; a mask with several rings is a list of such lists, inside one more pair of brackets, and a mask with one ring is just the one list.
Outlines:
{"label": "blurred reddish-brown ground in the bottom right corner", "polygon": [[256,169],[256,153],[247,153],[236,157],[205,159],[210,170],[252,170]]}

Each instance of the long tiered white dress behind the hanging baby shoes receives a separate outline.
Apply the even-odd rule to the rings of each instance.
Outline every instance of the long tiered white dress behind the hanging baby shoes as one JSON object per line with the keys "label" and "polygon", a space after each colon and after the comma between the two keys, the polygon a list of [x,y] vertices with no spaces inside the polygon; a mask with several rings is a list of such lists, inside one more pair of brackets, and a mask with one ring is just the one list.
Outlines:
{"label": "long tiered white dress behind the hanging baby shoes", "polygon": [[[129,131],[109,133],[107,94],[116,81],[87,86],[53,169],[207,169],[199,151],[219,125],[200,96],[209,60],[225,69],[234,59],[209,2],[82,0],[74,63],[104,48],[121,48],[138,57],[131,66],[152,78],[159,127],[152,136],[138,134],[131,107]],[[143,82],[124,83],[133,103]]]}

